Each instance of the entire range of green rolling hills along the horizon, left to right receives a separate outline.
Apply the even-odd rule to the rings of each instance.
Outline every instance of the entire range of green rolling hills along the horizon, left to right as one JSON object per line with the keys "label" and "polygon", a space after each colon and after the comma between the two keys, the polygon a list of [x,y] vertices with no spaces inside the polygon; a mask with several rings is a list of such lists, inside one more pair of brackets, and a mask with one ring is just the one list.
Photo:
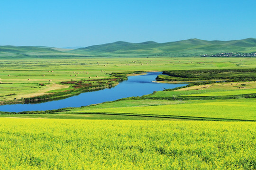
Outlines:
{"label": "entire range of green rolling hills along the horizon, left to right", "polygon": [[54,48],[44,46],[0,46],[3,58],[54,58],[54,57],[138,57],[138,56],[200,56],[225,52],[256,53],[256,39],[232,41],[206,41],[188,39],[177,42],[153,41],[131,43],[113,42],[85,48]]}

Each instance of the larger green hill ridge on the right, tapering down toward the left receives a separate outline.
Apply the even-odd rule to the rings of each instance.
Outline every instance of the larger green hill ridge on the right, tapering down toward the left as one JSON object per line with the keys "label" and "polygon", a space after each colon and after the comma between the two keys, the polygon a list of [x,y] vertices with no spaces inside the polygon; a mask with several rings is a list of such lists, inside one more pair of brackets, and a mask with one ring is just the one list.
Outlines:
{"label": "larger green hill ridge on the right, tapering down toward the left", "polygon": [[94,45],[70,51],[77,54],[100,56],[199,56],[221,52],[256,52],[256,39],[247,38],[234,41],[205,41],[189,39],[177,42],[113,42]]}

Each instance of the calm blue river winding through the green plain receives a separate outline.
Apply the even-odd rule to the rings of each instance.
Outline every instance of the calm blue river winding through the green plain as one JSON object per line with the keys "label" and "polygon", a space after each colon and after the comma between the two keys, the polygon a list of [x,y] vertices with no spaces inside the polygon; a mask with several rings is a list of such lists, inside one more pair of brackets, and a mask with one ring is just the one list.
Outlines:
{"label": "calm blue river winding through the green plain", "polygon": [[163,84],[153,83],[156,76],[162,72],[149,72],[141,76],[129,76],[128,80],[119,83],[119,85],[110,89],[103,89],[100,91],[81,93],[66,99],[36,103],[36,104],[11,104],[0,106],[0,111],[31,111],[31,110],[53,110],[65,107],[81,107],[89,104],[96,104],[101,102],[114,101],[117,99],[142,96],[145,94],[160,91],[164,88],[175,88],[185,84]]}

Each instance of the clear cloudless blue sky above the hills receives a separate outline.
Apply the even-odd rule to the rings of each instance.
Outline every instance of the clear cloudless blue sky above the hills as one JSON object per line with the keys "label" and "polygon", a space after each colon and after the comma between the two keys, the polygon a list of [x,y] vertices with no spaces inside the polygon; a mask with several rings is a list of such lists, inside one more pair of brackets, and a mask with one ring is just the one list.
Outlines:
{"label": "clear cloudless blue sky above the hills", "polygon": [[256,38],[256,0],[1,0],[0,45]]}

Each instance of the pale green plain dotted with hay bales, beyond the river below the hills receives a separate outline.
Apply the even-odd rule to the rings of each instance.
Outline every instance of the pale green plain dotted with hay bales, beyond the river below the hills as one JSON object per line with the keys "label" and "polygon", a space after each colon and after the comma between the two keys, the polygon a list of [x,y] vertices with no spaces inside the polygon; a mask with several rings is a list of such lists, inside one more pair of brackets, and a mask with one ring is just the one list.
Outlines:
{"label": "pale green plain dotted with hay bales, beyond the river below the hills", "polygon": [[[188,60],[193,62],[188,62]],[[72,88],[70,85],[60,84],[60,82],[87,80],[90,79],[89,77],[91,79],[110,77],[106,73],[195,68],[256,68],[256,59],[191,57],[1,60],[0,102],[19,102],[14,101],[14,99],[19,100],[21,98],[70,90]],[[45,86],[39,84],[44,84]]]}

